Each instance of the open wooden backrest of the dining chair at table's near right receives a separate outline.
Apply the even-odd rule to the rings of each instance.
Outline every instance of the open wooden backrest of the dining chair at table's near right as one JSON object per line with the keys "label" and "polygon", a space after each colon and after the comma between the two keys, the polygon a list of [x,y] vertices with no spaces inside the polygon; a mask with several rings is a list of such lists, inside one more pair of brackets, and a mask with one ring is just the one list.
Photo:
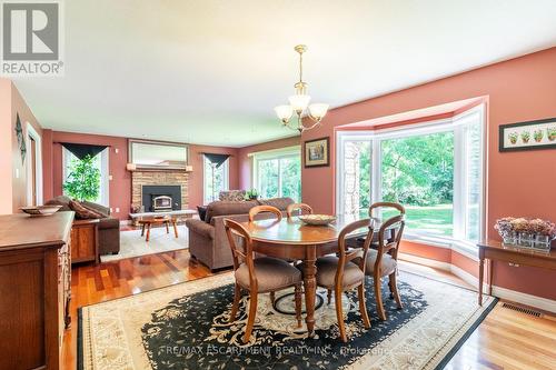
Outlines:
{"label": "open wooden backrest of the dining chair at table's near right", "polygon": [[[367,234],[365,237],[365,242],[361,247],[350,247],[347,244],[346,239],[347,236],[356,230],[367,228]],[[375,220],[374,219],[364,219],[351,222],[341,229],[340,234],[338,236],[338,270],[336,271],[336,281],[341,281],[344,277],[344,269],[346,263],[353,261],[356,258],[360,258],[359,268],[365,273],[365,267],[367,263],[367,252],[369,251],[370,242],[373,241],[373,237],[375,233]]]}

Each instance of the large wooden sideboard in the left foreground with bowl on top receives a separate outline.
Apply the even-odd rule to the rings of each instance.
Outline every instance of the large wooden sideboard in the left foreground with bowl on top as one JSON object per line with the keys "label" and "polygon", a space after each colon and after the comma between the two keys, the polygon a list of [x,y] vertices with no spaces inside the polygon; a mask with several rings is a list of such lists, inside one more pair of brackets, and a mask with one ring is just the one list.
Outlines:
{"label": "large wooden sideboard in the left foreground with bowl on top", "polygon": [[0,369],[60,369],[73,212],[0,216]]}

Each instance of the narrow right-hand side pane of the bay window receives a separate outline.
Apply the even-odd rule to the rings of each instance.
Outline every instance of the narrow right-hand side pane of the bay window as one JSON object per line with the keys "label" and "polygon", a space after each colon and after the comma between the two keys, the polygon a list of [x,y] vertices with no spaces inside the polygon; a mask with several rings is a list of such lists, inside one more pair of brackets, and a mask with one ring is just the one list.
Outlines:
{"label": "narrow right-hand side pane of the bay window", "polygon": [[466,140],[466,182],[467,182],[467,212],[465,237],[469,241],[477,241],[480,232],[480,193],[481,193],[481,160],[480,160],[480,124],[470,124],[465,128]]}

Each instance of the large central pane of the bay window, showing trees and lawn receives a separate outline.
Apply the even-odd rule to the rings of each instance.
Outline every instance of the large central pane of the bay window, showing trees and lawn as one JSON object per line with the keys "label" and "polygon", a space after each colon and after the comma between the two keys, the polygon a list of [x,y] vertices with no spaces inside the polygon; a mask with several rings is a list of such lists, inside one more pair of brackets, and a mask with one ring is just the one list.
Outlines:
{"label": "large central pane of the bay window, showing trees and lawn", "polygon": [[453,236],[454,133],[384,140],[380,150],[383,200],[406,207],[409,230]]}

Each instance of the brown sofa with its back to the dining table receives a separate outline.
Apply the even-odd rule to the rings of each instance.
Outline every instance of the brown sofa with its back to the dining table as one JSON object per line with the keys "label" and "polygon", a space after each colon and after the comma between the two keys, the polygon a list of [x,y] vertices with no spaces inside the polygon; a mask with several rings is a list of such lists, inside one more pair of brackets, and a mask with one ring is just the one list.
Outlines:
{"label": "brown sofa with its back to the dining table", "polygon": [[[216,201],[207,206],[205,220],[189,219],[189,252],[191,257],[207,266],[211,271],[234,266],[228,237],[224,228],[224,219],[237,222],[249,220],[249,210],[255,206],[272,206],[286,217],[286,208],[294,203],[291,198],[274,198],[247,201]],[[272,218],[272,214],[260,213],[257,219]]]}

